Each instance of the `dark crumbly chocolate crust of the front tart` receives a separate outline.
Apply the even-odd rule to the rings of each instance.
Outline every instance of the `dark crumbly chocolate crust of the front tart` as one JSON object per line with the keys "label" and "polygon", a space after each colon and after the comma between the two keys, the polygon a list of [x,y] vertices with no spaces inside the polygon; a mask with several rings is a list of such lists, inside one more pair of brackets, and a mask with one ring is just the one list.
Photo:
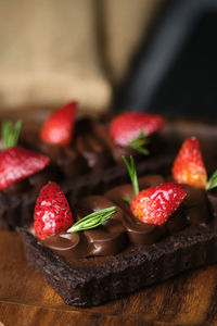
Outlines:
{"label": "dark crumbly chocolate crust of the front tart", "polygon": [[217,262],[217,229],[203,227],[145,249],[111,258],[95,268],[76,268],[18,228],[28,263],[75,306],[93,306]]}

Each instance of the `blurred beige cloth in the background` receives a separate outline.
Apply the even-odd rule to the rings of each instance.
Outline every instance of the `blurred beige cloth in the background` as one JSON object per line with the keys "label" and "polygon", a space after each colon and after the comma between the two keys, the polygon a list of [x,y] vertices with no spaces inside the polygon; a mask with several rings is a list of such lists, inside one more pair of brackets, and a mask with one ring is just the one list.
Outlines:
{"label": "blurred beige cloth in the background", "polygon": [[105,110],[163,0],[0,0],[0,108]]}

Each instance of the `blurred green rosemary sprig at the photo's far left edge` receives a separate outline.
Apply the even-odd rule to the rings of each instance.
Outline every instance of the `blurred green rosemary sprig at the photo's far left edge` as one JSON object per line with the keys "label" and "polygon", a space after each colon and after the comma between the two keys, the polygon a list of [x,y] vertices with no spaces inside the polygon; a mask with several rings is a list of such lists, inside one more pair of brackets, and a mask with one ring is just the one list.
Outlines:
{"label": "blurred green rosemary sprig at the photo's far left edge", "polygon": [[17,145],[23,121],[18,120],[14,125],[11,121],[2,122],[2,147],[8,149]]}

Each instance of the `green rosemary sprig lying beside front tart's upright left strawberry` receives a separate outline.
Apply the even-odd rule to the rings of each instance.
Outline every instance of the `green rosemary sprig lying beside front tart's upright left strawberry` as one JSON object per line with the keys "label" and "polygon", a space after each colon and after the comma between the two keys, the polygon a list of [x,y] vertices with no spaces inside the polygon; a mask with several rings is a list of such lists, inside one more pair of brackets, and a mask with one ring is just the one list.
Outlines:
{"label": "green rosemary sprig lying beside front tart's upright left strawberry", "polygon": [[93,212],[76,222],[71,228],[66,230],[66,233],[77,233],[80,230],[94,228],[111,218],[115,213],[117,213],[117,211],[118,210],[116,206],[111,206]]}

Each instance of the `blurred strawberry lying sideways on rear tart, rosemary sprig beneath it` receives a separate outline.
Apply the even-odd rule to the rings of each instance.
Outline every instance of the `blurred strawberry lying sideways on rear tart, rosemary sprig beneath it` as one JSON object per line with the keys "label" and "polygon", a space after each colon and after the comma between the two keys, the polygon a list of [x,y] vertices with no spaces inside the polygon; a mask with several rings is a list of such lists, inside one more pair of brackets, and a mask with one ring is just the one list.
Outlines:
{"label": "blurred strawberry lying sideways on rear tart, rosemary sprig beneath it", "polygon": [[151,135],[165,125],[165,120],[159,115],[142,112],[126,112],[112,121],[110,134],[116,145],[126,147],[141,131]]}

